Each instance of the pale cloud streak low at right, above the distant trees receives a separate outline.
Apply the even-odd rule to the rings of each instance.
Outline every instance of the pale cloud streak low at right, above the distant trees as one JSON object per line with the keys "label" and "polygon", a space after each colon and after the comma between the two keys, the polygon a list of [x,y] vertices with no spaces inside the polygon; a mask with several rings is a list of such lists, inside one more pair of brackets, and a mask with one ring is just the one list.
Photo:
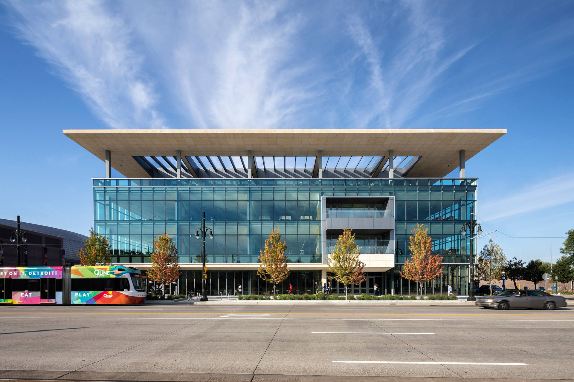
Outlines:
{"label": "pale cloud streak low at right, above the distant trees", "polygon": [[542,184],[513,190],[509,195],[497,196],[480,207],[482,219],[487,222],[540,211],[544,208],[574,202],[574,172],[546,179]]}

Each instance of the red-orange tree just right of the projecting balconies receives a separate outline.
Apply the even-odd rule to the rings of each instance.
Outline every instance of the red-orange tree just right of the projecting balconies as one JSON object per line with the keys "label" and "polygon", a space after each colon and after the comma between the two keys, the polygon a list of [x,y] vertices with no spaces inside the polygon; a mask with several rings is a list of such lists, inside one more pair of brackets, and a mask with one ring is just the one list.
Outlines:
{"label": "red-orange tree just right of the projecting balconies", "polygon": [[420,283],[422,296],[422,283],[439,277],[443,273],[443,257],[432,255],[432,238],[428,235],[424,224],[413,228],[409,237],[410,259],[406,259],[402,266],[401,276]]}

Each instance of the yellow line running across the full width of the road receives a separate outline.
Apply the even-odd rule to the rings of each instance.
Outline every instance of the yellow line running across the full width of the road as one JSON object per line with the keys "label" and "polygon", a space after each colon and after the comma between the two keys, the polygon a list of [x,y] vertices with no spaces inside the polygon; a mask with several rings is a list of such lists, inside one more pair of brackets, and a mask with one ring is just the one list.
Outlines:
{"label": "yellow line running across the full width of the road", "polygon": [[0,314],[138,314],[143,316],[144,314],[234,314],[235,316],[253,316],[253,314],[288,314],[292,315],[304,315],[304,316],[574,316],[574,314],[556,314],[556,313],[235,313],[235,312],[189,312],[189,313],[151,313],[151,312],[0,312]]}

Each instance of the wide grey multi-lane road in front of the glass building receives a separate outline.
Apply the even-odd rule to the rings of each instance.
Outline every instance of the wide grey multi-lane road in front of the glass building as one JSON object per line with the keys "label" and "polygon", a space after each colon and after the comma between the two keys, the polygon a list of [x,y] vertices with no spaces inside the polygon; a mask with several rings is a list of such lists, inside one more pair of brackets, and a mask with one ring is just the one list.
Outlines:
{"label": "wide grey multi-lane road in front of the glass building", "polygon": [[[62,371],[38,374],[44,378],[77,371],[569,379],[572,338],[571,308],[0,306],[0,369]],[[0,379],[14,376],[0,371]]]}

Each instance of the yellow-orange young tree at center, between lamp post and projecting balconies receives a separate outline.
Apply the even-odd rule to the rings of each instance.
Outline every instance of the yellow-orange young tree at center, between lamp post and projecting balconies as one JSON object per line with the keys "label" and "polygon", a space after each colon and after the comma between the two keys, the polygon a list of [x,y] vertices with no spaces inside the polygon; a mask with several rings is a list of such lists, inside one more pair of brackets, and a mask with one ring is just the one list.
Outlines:
{"label": "yellow-orange young tree at center, between lamp post and projecting balconies", "polygon": [[289,277],[290,270],[287,267],[287,257],[285,256],[285,241],[281,241],[279,229],[271,229],[269,239],[265,241],[265,251],[259,250],[259,261],[261,265],[257,269],[259,277],[273,284],[273,296],[275,296],[276,285]]}

